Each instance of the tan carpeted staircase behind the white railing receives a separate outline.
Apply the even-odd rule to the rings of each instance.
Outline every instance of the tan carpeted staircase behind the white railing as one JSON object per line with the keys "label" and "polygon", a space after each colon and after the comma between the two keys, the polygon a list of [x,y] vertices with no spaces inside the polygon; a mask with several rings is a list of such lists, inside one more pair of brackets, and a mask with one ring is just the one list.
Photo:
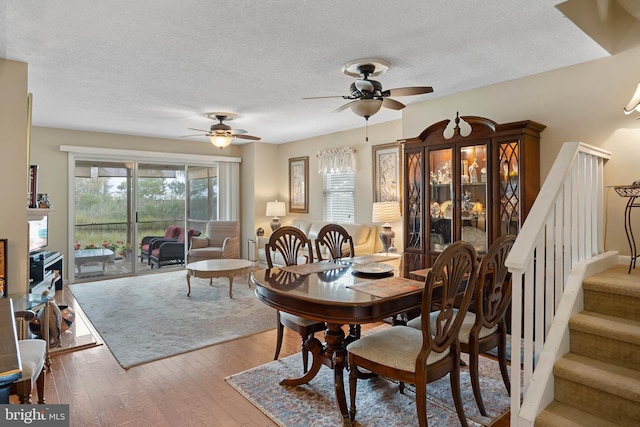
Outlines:
{"label": "tan carpeted staircase behind the white railing", "polygon": [[554,364],[555,400],[536,426],[640,423],[640,269],[618,265],[583,281],[570,352]]}

